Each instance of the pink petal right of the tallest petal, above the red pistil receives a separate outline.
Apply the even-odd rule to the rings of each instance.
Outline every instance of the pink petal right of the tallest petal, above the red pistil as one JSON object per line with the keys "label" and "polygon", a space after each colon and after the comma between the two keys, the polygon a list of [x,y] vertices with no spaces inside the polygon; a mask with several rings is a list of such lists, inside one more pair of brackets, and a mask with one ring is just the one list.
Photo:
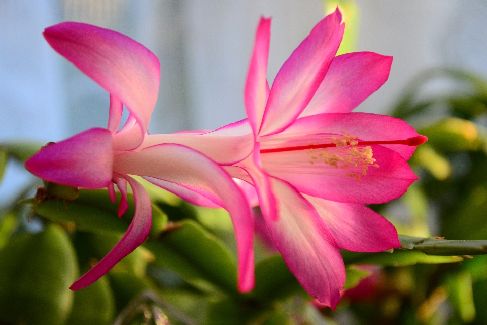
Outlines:
{"label": "pink petal right of the tallest petal, above the red pistil", "polygon": [[389,77],[392,56],[373,52],[335,57],[325,79],[300,117],[320,113],[349,113]]}

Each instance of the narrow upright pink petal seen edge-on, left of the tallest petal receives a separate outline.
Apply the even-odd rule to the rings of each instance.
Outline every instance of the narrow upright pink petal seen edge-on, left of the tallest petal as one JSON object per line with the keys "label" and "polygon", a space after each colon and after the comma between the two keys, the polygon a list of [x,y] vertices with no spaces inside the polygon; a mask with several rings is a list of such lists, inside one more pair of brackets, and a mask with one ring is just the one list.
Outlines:
{"label": "narrow upright pink petal seen edge-on, left of the tallest petal", "polygon": [[245,85],[245,109],[254,135],[260,129],[267,101],[267,61],[269,59],[270,21],[261,17],[255,35],[255,45],[250,59]]}

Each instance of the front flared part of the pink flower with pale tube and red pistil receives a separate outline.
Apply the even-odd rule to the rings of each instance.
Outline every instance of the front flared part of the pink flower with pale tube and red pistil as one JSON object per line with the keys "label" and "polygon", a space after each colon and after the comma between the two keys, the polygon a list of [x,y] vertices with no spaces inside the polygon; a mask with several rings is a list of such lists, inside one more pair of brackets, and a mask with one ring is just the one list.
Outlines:
{"label": "front flared part of the pink flower with pale tube and red pistil", "polygon": [[345,282],[340,249],[400,247],[394,226],[363,204],[400,197],[416,179],[406,160],[426,141],[404,121],[350,113],[388,78],[392,57],[335,57],[337,9],[291,54],[269,89],[270,19],[262,18],[245,87],[248,119],[209,133],[150,135],[180,143],[253,184],[277,249],[303,288],[334,308]]}

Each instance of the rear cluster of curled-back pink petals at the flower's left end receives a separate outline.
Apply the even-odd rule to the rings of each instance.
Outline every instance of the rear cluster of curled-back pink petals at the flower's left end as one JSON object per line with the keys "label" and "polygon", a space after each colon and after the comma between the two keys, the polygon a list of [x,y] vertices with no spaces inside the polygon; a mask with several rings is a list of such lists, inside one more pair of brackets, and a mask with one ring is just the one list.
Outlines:
{"label": "rear cluster of curled-back pink petals at the flower's left end", "polygon": [[[133,220],[120,242],[71,289],[96,281],[147,238],[151,202],[144,187],[129,176],[143,175],[169,190],[200,198],[200,203],[228,210],[236,229],[238,288],[251,290],[253,219],[245,196],[230,175],[212,159],[181,144],[160,142],[137,149],[147,135],[157,100],[157,57],[118,32],[83,23],[51,26],[44,31],[44,37],[54,50],[110,93],[109,123],[108,129],[92,128],[46,146],[28,159],[25,167],[49,182],[89,189],[107,187],[113,202],[117,184],[122,193],[119,216],[127,210],[128,182],[136,205]],[[130,115],[118,131],[123,105]]]}

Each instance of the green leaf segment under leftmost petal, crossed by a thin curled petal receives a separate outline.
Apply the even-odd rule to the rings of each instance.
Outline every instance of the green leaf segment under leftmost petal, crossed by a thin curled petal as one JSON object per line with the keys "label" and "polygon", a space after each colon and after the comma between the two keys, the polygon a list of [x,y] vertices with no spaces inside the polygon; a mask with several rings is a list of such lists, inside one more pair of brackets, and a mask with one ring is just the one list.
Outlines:
{"label": "green leaf segment under leftmost petal, crossed by a thin curled petal", "polygon": [[[36,212],[54,222],[74,222],[76,229],[81,231],[125,233],[135,213],[135,204],[133,195],[127,193],[128,209],[119,219],[117,211],[120,197],[120,193],[117,193],[117,201],[112,203],[105,189],[80,189],[80,196],[76,200],[47,200],[37,204]],[[150,236],[158,236],[166,223],[167,216],[153,204]]]}

